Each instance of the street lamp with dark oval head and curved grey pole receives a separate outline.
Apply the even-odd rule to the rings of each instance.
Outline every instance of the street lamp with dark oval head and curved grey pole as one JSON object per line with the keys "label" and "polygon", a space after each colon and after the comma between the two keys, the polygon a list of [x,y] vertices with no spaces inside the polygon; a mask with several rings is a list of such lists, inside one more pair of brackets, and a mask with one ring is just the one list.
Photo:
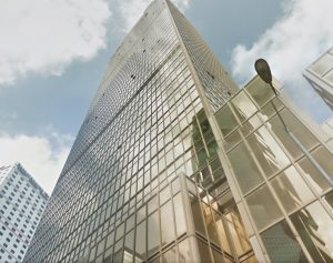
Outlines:
{"label": "street lamp with dark oval head and curved grey pole", "polygon": [[[274,94],[278,97],[279,93],[276,91],[276,89],[274,88],[272,81],[272,73],[271,73],[271,69],[270,65],[268,63],[268,61],[265,61],[264,59],[259,59],[255,61],[254,63],[254,68],[255,71],[258,73],[258,75],[268,84],[270,84],[270,87],[272,88]],[[333,188],[333,180],[332,178],[326,173],[325,170],[322,169],[322,166],[317,163],[317,161],[310,154],[310,152],[306,150],[306,148],[302,144],[302,142],[293,134],[293,132],[287,128],[287,125],[285,124],[285,122],[283,121],[280,112],[278,111],[275,104],[272,102],[273,108],[280,119],[280,121],[282,122],[285,132],[289,134],[289,136],[292,139],[292,141],[302,150],[302,152],[305,154],[305,156],[311,161],[311,163],[315,166],[315,169],[319,171],[319,173],[321,174],[321,176],[330,184],[331,188]]]}

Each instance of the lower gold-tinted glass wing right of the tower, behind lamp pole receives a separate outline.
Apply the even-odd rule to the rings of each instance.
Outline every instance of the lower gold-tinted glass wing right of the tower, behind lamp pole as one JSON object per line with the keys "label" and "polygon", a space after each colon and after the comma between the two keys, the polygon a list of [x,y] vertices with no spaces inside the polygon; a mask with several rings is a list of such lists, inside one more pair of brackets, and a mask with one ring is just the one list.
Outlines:
{"label": "lower gold-tinted glass wing right of the tower, behind lamp pole", "polygon": [[333,154],[321,135],[259,78],[221,108],[215,120],[225,164],[232,168],[233,195],[239,195],[243,219],[250,214],[250,240],[266,252],[266,261],[332,262],[332,188],[281,120],[333,178]]}

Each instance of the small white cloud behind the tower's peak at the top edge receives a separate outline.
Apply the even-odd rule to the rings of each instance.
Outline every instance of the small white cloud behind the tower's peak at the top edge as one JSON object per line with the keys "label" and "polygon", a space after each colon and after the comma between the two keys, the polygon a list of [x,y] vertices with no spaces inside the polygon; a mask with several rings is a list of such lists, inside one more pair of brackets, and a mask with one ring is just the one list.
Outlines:
{"label": "small white cloud behind the tower's peak at the top edge", "polygon": [[[138,22],[151,0],[118,0],[118,7],[123,20],[122,30],[128,32]],[[181,10],[189,7],[190,0],[172,1]]]}

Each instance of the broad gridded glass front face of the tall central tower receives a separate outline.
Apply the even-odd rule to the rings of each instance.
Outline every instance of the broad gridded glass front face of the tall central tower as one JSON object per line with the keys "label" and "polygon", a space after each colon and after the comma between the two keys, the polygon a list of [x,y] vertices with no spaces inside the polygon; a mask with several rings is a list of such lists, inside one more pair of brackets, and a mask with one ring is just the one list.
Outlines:
{"label": "broad gridded glass front face of the tall central tower", "polygon": [[256,262],[168,4],[112,57],[24,262]]}

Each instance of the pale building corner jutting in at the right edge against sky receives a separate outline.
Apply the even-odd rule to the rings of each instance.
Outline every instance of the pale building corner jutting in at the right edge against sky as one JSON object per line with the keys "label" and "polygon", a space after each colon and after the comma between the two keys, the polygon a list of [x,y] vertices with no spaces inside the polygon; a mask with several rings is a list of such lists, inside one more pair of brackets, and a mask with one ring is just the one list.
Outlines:
{"label": "pale building corner jutting in at the right edge against sky", "polygon": [[303,75],[333,110],[333,47],[309,65]]}

